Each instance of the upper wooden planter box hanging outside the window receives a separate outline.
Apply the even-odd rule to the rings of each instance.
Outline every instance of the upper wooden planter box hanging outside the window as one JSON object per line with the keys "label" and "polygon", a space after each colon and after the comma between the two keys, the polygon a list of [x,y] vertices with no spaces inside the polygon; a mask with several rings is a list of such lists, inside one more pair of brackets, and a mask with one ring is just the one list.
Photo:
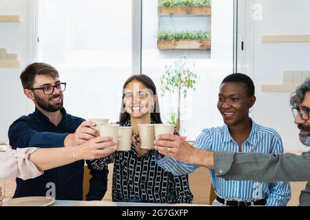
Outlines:
{"label": "upper wooden planter box hanging outside the window", "polygon": [[211,15],[211,6],[158,6],[159,16]]}

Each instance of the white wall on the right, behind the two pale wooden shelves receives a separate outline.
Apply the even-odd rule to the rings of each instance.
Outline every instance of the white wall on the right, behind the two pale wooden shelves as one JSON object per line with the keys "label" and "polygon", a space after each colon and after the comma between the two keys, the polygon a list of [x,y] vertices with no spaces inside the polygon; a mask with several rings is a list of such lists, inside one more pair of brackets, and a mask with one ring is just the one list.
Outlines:
{"label": "white wall on the right, behind the two pale wooden shelves", "polygon": [[[310,43],[262,43],[262,35],[310,34],[309,0],[247,1],[247,39],[253,47],[245,48],[249,58],[247,74],[256,84],[257,102],[253,117],[256,122],[270,126],[280,133],[287,151],[307,150],[298,140],[298,129],[293,124],[289,106],[291,93],[260,91],[263,84],[282,84],[287,70],[309,70]],[[262,20],[252,19],[253,3],[262,5]],[[254,38],[252,38],[252,34]],[[253,64],[252,64],[253,63]]]}

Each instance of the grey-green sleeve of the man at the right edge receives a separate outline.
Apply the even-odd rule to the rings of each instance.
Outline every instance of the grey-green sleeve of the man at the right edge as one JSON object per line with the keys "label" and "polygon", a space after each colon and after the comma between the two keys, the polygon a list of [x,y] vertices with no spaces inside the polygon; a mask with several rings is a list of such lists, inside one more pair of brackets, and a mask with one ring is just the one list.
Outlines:
{"label": "grey-green sleeve of the man at the right edge", "polygon": [[310,181],[310,151],[302,155],[216,152],[214,170],[218,177],[224,179]]}

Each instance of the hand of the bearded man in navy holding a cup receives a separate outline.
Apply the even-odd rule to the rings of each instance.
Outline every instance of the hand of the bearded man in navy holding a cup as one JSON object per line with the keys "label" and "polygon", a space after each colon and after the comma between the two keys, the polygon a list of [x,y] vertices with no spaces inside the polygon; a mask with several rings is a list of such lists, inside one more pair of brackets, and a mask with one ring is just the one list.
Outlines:
{"label": "hand of the bearded man in navy holding a cup", "polygon": [[67,135],[65,137],[65,146],[77,146],[79,144],[83,144],[87,142],[87,140],[91,140],[94,137],[99,137],[99,131],[96,129],[92,129],[91,127],[96,126],[95,122],[83,122],[76,129],[75,133]]}

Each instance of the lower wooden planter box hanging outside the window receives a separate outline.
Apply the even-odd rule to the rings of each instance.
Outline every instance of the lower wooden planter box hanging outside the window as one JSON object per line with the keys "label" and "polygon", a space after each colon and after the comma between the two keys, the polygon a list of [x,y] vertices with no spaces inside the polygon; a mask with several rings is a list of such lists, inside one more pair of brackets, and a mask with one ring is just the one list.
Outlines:
{"label": "lower wooden planter box hanging outside the window", "polygon": [[159,50],[210,50],[210,40],[157,41]]}

